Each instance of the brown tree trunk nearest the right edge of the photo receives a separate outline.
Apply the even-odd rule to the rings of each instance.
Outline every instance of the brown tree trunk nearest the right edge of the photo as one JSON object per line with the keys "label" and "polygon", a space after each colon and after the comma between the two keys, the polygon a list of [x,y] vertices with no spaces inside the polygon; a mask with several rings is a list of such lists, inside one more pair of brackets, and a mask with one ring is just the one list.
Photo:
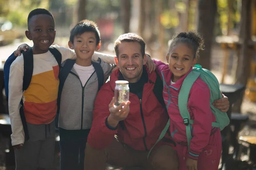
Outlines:
{"label": "brown tree trunk nearest the right edge of the photo", "polygon": [[[250,61],[251,54],[249,42],[251,38],[251,0],[242,0],[241,11],[241,57],[239,57],[239,65],[237,68],[236,83],[247,85],[248,77],[250,76]],[[241,113],[241,104],[244,98],[244,92],[239,97],[238,101],[233,106],[233,112]]]}

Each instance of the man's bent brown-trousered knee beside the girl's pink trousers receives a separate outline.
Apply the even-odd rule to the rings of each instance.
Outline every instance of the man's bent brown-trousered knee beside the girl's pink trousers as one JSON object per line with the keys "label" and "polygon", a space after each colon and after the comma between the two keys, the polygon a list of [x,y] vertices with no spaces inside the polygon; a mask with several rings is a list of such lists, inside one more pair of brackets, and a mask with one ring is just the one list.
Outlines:
{"label": "man's bent brown-trousered knee beside the girl's pink trousers", "polygon": [[178,170],[177,152],[168,145],[157,147],[149,160],[153,170]]}

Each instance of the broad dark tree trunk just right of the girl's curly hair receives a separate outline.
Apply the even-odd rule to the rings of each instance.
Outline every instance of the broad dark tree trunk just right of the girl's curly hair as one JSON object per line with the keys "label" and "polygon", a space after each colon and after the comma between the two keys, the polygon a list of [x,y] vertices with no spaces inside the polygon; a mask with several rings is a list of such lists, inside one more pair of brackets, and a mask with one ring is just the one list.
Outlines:
{"label": "broad dark tree trunk just right of the girl's curly hair", "polygon": [[208,70],[211,68],[211,51],[216,11],[217,0],[198,0],[198,32],[203,36],[205,45],[204,51],[200,52],[198,64]]}

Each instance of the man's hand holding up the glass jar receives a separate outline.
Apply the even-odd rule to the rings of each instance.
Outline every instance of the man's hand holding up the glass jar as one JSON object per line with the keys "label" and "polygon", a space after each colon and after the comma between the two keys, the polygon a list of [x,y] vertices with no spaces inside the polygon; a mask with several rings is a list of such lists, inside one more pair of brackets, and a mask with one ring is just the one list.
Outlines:
{"label": "man's hand holding up the glass jar", "polygon": [[114,106],[115,104],[115,98],[113,97],[112,101],[108,105],[110,115],[108,116],[108,125],[111,127],[116,127],[119,121],[124,120],[128,114],[129,114],[129,105],[131,104],[130,101],[128,101],[126,104],[123,102],[119,106]]}

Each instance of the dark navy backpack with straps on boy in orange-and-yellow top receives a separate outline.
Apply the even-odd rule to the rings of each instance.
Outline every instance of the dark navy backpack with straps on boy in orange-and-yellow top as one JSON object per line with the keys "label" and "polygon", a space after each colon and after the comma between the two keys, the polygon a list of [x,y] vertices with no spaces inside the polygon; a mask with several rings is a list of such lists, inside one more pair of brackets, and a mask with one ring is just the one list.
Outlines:
{"label": "dark navy backpack with straps on boy in orange-and-yellow top", "polygon": [[[49,47],[49,51],[52,53],[52,55],[55,57],[56,61],[58,62],[59,68],[61,66],[61,53],[53,47]],[[32,48],[29,48],[26,52],[22,52],[23,54],[23,59],[24,59],[24,75],[23,75],[23,91],[25,91],[31,82],[32,75],[33,75],[33,52]],[[8,95],[9,95],[9,73],[10,73],[10,67],[12,65],[12,62],[16,59],[14,54],[12,54],[10,57],[5,62],[4,65],[4,81],[5,81],[5,89],[6,89],[6,98],[8,101]],[[24,115],[24,110],[23,110],[23,101],[21,99],[20,101],[21,107],[20,107],[20,118],[21,122],[23,125],[23,130],[25,133],[25,139],[29,140],[29,133],[28,133],[28,127],[26,125],[26,118]]]}

